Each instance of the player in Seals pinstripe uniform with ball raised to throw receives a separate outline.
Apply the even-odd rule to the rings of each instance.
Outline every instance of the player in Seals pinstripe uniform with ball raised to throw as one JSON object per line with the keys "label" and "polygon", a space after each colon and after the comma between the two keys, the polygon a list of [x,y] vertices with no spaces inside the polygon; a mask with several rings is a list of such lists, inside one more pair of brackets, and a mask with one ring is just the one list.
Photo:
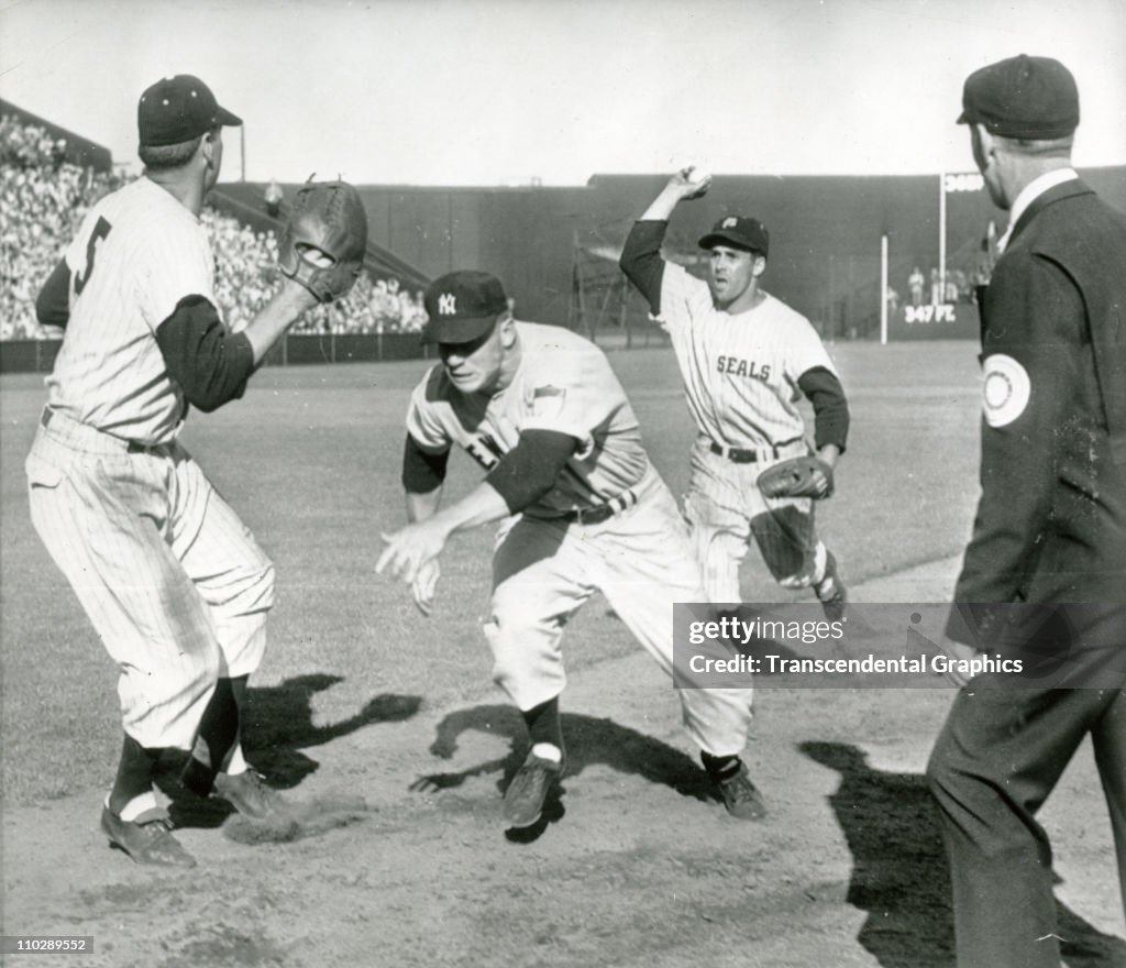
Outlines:
{"label": "player in Seals pinstripe uniform with ball raised to throw", "polygon": [[759,221],[729,215],[700,239],[706,282],[661,258],[672,211],[709,184],[691,168],[676,172],[634,224],[620,259],[672,339],[696,421],[685,499],[692,544],[712,602],[740,601],[739,567],[753,538],[780,585],[812,586],[838,619],[846,590],[814,529],[814,498],[768,498],[757,481],[771,464],[808,453],[797,407],[804,396],[824,465],[815,494],[829,497],[848,434],[844,391],[808,320],[761,287],[770,240]]}

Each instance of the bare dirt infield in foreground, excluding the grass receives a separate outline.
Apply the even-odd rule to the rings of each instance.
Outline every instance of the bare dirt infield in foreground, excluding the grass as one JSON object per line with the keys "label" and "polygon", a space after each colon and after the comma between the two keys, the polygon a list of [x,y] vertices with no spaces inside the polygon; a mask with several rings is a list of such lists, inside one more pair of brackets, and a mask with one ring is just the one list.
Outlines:
{"label": "bare dirt infield in foreground, excluding the grass", "polygon": [[[955,566],[857,595],[913,597]],[[322,806],[363,796],[366,809],[305,838],[240,843],[225,835],[233,818],[198,811],[181,840],[199,868],[162,872],[105,850],[97,791],[8,810],[5,931],[92,936],[91,954],[47,961],[75,966],[953,966],[921,776],[949,700],[763,684],[749,760],[770,816],[747,824],[701,783],[659,672],[640,654],[613,659],[574,675],[570,774],[545,822],[517,834],[499,817],[519,761],[502,699],[418,710],[387,698],[318,745],[319,769],[289,792]],[[312,745],[295,734],[286,752]],[[1065,963],[1121,966],[1090,758],[1045,811]]]}

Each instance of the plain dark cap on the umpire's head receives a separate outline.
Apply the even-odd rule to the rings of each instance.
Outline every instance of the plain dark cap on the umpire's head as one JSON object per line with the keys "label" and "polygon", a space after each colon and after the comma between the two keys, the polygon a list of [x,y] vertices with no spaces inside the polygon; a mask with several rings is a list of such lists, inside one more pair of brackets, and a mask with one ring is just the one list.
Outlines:
{"label": "plain dark cap on the umpire's head", "polygon": [[966,78],[958,124],[981,124],[1002,137],[1066,137],[1079,126],[1075,79],[1052,57],[998,61]]}

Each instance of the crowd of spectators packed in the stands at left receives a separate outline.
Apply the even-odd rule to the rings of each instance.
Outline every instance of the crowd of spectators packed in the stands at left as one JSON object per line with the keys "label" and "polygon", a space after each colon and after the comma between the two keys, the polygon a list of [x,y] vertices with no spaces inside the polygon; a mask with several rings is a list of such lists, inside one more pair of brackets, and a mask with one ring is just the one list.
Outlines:
{"label": "crowd of spectators packed in the stands at left", "polygon": [[[63,160],[60,144],[43,128],[0,117],[0,339],[42,339],[35,297],[90,206],[124,184]],[[279,284],[277,238],[205,208],[217,266],[215,296],[224,321],[245,326]],[[361,272],[352,291],[305,313],[294,332],[414,332],[426,322],[420,293],[395,279]]]}

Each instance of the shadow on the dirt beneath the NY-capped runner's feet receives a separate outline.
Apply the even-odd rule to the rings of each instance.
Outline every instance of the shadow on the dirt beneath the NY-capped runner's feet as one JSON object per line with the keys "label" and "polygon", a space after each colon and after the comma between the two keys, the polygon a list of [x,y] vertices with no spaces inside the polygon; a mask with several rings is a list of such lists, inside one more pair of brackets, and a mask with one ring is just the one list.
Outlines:
{"label": "shadow on the dirt beneath the NY-capped runner's feet", "polygon": [[[671,787],[682,797],[696,800],[718,800],[703,766],[690,756],[671,746],[645,736],[635,729],[619,726],[611,719],[602,719],[582,713],[564,712],[560,717],[563,726],[563,741],[566,745],[566,772],[563,783],[556,784],[544,803],[539,822],[522,831],[509,831],[507,837],[513,842],[536,840],[549,824],[560,820],[564,814],[561,794],[565,781],[577,776],[588,766],[606,765],[620,773],[633,773],[651,783]],[[504,756],[479,763],[465,770],[447,773],[430,773],[411,784],[415,791],[447,790],[461,787],[471,776],[500,773],[497,788],[503,791],[520,769],[528,752],[527,729],[519,711],[511,705],[475,705],[449,713],[437,726],[437,736],[430,744],[430,753],[449,760],[457,752],[462,734],[475,730],[490,736],[499,736],[509,741]]]}

